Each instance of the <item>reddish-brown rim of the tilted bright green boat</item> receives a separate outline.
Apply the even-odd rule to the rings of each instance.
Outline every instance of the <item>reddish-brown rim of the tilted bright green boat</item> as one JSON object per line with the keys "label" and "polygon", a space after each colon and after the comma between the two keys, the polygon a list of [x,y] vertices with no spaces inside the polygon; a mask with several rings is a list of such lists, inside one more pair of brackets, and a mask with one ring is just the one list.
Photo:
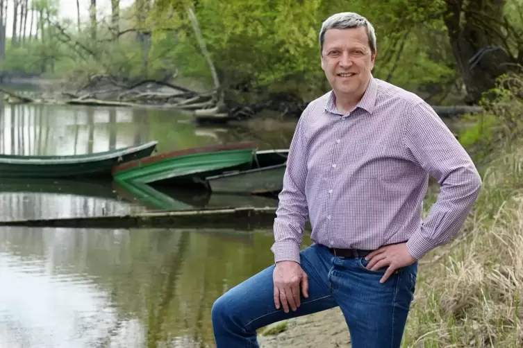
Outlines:
{"label": "reddish-brown rim of the tilted bright green boat", "polygon": [[214,144],[208,146],[199,146],[196,148],[185,148],[183,150],[174,150],[169,153],[160,153],[158,155],[145,157],[142,159],[135,159],[130,162],[119,164],[111,168],[111,172],[114,175],[120,175],[125,171],[142,168],[143,166],[148,166],[150,164],[155,164],[157,162],[163,161],[165,159],[172,159],[174,157],[182,157],[186,155],[197,155],[201,153],[216,153],[220,151],[227,150],[249,150],[255,149],[256,143],[254,141],[244,141],[240,143],[228,143],[228,144]]}

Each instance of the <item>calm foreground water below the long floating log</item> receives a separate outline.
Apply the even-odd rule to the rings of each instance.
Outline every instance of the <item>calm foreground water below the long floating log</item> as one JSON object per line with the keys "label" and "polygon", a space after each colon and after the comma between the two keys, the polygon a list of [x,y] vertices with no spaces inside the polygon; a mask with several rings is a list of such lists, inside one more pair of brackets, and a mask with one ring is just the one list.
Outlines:
{"label": "calm foreground water below the long floating log", "polygon": [[0,229],[0,346],[213,347],[219,295],[270,231]]}

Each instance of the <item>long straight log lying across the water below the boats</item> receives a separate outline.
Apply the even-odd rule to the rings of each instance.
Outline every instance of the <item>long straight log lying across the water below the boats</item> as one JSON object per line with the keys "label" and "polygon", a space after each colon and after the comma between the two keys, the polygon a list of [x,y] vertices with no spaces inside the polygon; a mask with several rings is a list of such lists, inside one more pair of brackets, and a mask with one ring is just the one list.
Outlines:
{"label": "long straight log lying across the water below the boats", "polygon": [[0,226],[18,227],[68,227],[68,228],[139,228],[139,227],[217,227],[271,228],[276,217],[276,207],[241,207],[179,211],[153,211],[149,213],[82,218],[54,218],[35,220],[0,221]]}

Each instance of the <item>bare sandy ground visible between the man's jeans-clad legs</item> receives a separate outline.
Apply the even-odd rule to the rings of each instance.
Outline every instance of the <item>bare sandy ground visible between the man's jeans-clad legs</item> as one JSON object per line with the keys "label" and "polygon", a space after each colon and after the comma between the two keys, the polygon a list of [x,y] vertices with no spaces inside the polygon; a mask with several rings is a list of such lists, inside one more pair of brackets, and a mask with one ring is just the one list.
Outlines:
{"label": "bare sandy ground visible between the man's jeans-clad legs", "polygon": [[350,347],[349,330],[340,308],[287,321],[288,329],[274,336],[258,335],[260,348]]}

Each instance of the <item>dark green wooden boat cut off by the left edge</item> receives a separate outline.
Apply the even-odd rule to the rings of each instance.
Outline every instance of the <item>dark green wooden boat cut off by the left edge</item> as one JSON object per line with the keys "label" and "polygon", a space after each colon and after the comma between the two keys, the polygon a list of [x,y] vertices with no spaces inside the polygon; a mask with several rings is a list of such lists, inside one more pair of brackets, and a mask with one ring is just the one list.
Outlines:
{"label": "dark green wooden boat cut off by the left edge", "polygon": [[151,155],[158,141],[117,148],[103,153],[66,156],[0,155],[0,177],[99,178],[111,177],[111,168]]}

